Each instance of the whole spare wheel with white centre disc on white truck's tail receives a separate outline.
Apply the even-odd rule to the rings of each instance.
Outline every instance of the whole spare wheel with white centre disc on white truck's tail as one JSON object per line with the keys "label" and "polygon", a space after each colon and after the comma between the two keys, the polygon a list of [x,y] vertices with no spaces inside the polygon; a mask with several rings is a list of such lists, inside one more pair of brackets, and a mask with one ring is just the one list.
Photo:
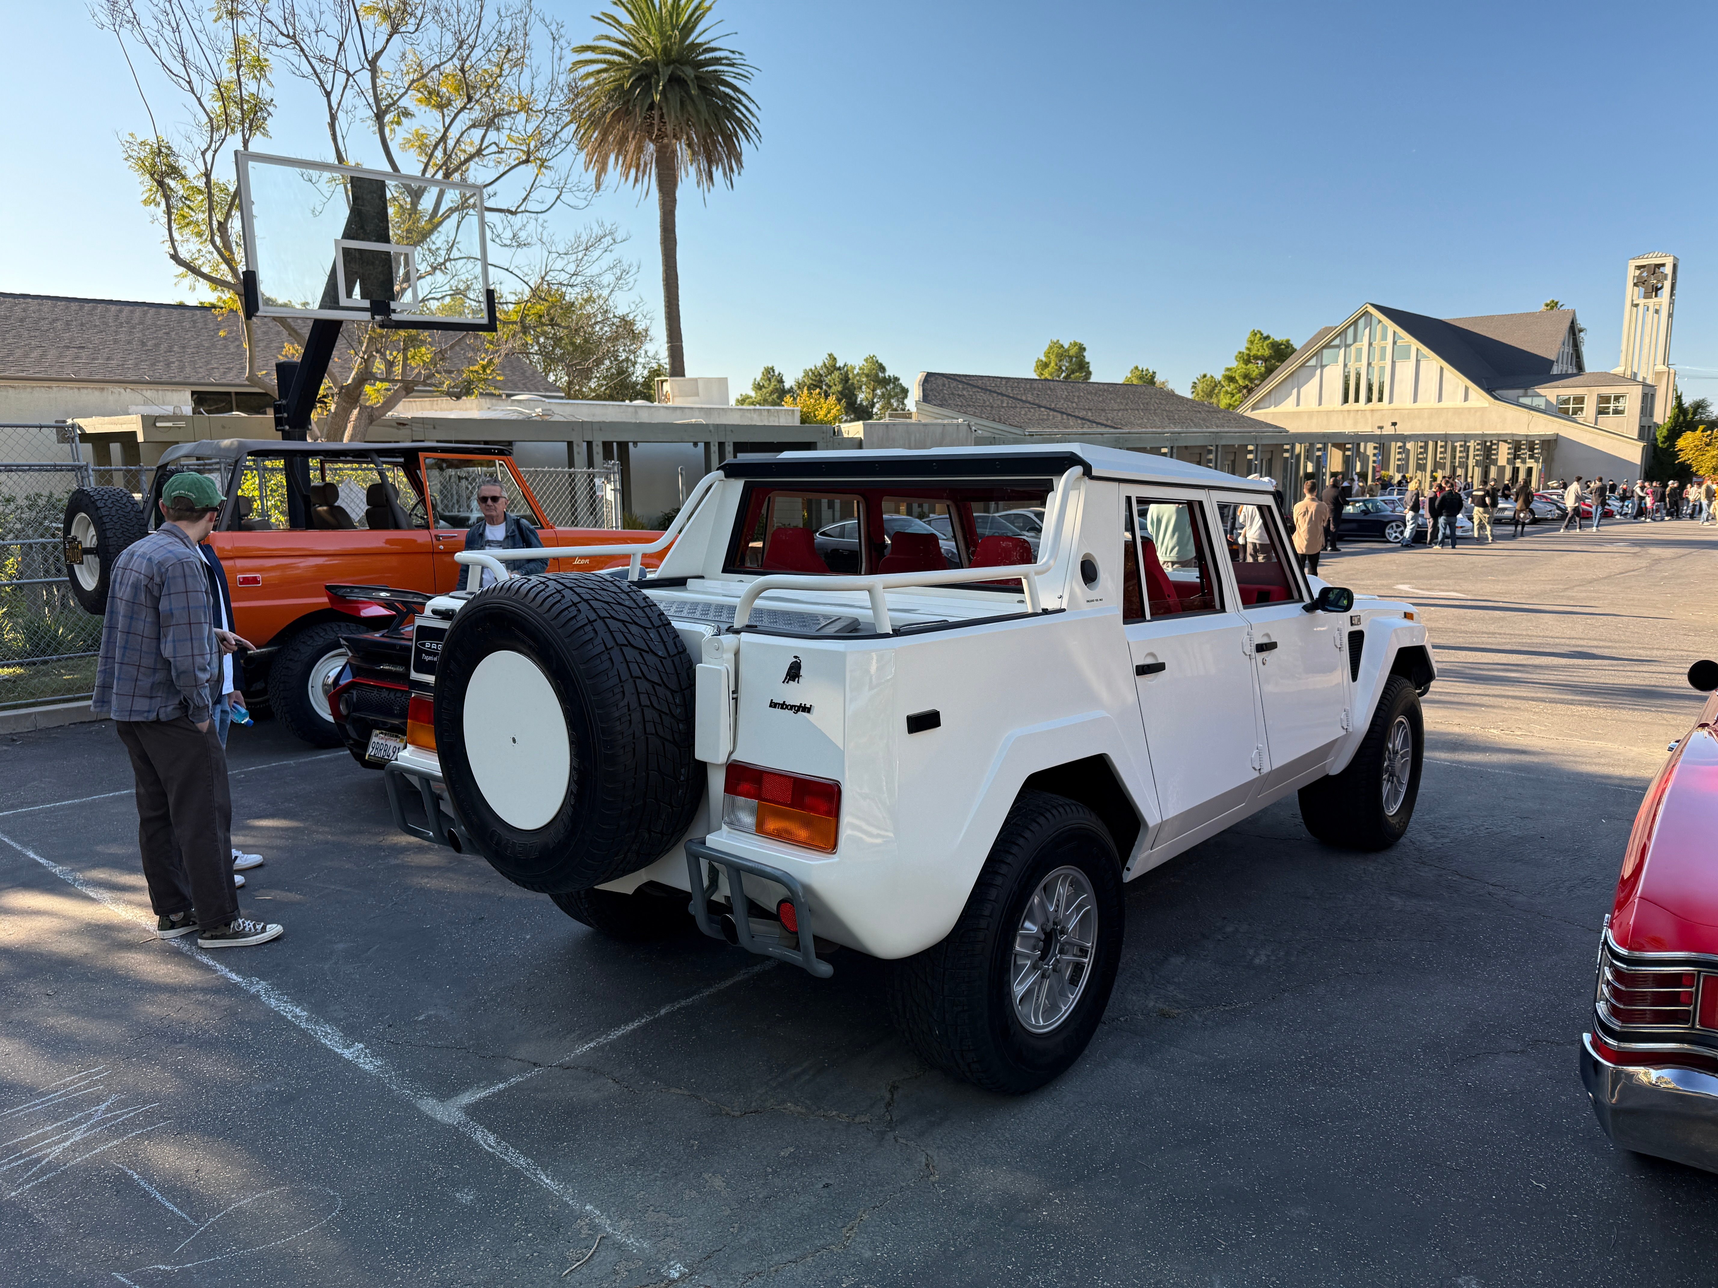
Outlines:
{"label": "whole spare wheel with white centre disc on white truck's tail", "polygon": [[692,656],[631,584],[510,577],[454,618],[436,663],[448,797],[509,881],[589,890],[653,864],[692,824]]}

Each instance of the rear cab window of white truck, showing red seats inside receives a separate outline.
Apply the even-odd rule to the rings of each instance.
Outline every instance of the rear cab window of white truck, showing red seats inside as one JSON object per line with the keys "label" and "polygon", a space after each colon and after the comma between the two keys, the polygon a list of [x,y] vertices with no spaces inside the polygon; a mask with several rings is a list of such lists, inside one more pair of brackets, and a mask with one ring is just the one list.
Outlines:
{"label": "rear cab window of white truck, showing red seats inside", "polygon": [[[1036,563],[1050,481],[1008,486],[751,483],[727,572],[852,577]],[[1014,589],[1017,582],[974,582]]]}

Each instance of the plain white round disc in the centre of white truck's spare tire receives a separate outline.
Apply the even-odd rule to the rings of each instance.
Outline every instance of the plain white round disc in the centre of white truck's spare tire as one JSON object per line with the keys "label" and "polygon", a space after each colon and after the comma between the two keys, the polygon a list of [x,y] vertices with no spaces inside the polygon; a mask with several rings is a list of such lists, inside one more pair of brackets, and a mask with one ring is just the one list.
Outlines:
{"label": "plain white round disc in the centre of white truck's spare tire", "polygon": [[522,653],[491,653],[471,673],[462,716],[471,776],[497,817],[521,831],[553,819],[572,781],[572,738],[543,670]]}

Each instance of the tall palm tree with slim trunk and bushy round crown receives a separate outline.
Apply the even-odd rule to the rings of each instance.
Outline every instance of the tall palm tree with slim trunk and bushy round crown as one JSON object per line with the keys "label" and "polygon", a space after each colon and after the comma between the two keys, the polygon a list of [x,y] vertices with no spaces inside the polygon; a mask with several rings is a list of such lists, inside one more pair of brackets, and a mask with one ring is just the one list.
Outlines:
{"label": "tall palm tree with slim trunk and bushy round crown", "polygon": [[742,88],[752,67],[713,43],[715,0],[615,2],[618,14],[594,15],[610,31],[574,50],[584,88],[574,137],[598,189],[610,167],[644,191],[656,184],[668,374],[684,376],[675,199],[684,175],[706,192],[718,177],[734,187],[744,144],[758,143],[758,105]]}

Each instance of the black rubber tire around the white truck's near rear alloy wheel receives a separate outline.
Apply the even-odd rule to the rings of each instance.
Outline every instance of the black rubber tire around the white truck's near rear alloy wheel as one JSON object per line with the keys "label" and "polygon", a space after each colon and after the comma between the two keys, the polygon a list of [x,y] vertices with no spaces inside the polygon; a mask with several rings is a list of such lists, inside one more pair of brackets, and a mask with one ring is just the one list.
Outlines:
{"label": "black rubber tire around the white truck's near rear alloy wheel", "polygon": [[[1027,900],[1058,867],[1091,883],[1098,933],[1074,1008],[1045,1034],[1031,1032],[1010,996],[1014,941]],[[1077,800],[1020,792],[941,943],[895,962],[888,1010],[929,1065],[986,1091],[1019,1096],[1067,1070],[1091,1042],[1122,960],[1125,898],[1110,831]]]}

